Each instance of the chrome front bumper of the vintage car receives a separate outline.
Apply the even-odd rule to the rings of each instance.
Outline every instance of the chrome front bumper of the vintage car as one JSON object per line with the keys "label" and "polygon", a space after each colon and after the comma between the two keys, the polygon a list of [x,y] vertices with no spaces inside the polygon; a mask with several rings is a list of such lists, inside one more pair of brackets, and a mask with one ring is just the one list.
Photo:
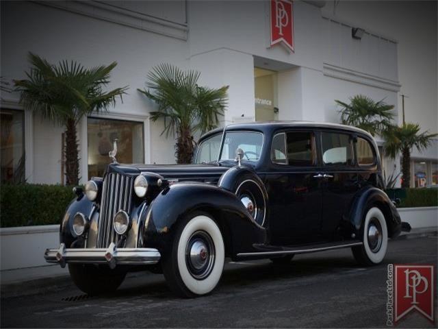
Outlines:
{"label": "chrome front bumper of the vintage car", "polygon": [[107,264],[114,268],[116,265],[153,265],[159,262],[161,255],[153,248],[120,248],[114,243],[105,248],[66,248],[61,243],[59,249],[46,249],[44,258],[47,263]]}

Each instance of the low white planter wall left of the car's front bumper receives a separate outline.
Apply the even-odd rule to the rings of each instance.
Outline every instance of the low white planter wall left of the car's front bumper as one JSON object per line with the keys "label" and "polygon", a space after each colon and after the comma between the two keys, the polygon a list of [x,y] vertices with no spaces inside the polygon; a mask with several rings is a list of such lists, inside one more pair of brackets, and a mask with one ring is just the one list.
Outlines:
{"label": "low white planter wall left of the car's front bumper", "polygon": [[44,251],[60,245],[60,226],[23,226],[0,228],[0,269],[20,269],[49,265]]}

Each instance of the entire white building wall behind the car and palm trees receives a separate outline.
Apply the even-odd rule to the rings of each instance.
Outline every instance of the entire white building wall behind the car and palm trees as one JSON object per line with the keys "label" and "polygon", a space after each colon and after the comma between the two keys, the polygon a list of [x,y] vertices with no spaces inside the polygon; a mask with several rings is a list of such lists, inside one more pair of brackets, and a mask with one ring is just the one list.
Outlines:
{"label": "entire white building wall behind the car and palm trees", "polygon": [[[403,66],[404,70],[405,66],[415,66],[413,90],[418,93],[415,91],[411,95],[419,95],[424,101],[416,103],[422,110],[417,111],[414,119],[431,131],[436,127],[436,49],[435,63],[431,62],[434,52],[430,52],[433,48],[430,42],[435,42],[436,46],[436,28],[435,32],[429,30],[431,34],[435,33],[435,40],[428,34],[426,37],[426,28],[433,27],[430,15],[426,15],[428,23],[423,27],[417,27],[422,24],[416,17],[414,19],[415,35],[424,36],[424,40],[405,40],[400,31],[406,32],[406,27],[402,26],[406,20],[396,19],[397,26],[392,27],[381,22],[383,16],[372,18],[377,9],[398,10],[399,4],[381,7],[377,3],[359,3],[356,7],[342,1],[333,13],[330,1],[322,9],[304,1],[294,1],[294,53],[280,45],[269,47],[268,1],[112,1],[110,7],[100,1],[45,4],[1,3],[2,76],[23,78],[28,69],[27,51],[34,51],[50,62],[73,59],[84,66],[116,60],[118,66],[112,73],[109,88],[129,85],[129,95],[103,117],[145,123],[147,162],[175,162],[173,137],[166,139],[160,135],[164,127],[162,121],[149,122],[149,112],[155,105],[136,90],[144,86],[146,73],[162,62],[201,71],[200,83],[203,85],[212,88],[229,85],[229,106],[221,124],[255,119],[255,65],[279,71],[279,119],[329,122],[339,122],[335,99],[348,101],[348,97],[362,93],[397,105],[398,77],[402,85],[413,86],[409,79],[412,72],[399,74],[398,67]],[[404,10],[410,8],[402,7]],[[361,15],[368,15],[368,21]],[[386,15],[385,21],[393,21],[393,16]],[[355,21],[355,25],[348,21]],[[351,27],[356,24],[365,27],[367,32],[360,41],[351,38]],[[371,25],[373,29],[368,30]],[[402,40],[403,45],[400,46],[396,39]],[[415,51],[421,53],[418,56],[423,64],[417,63],[421,60],[412,60],[416,58],[412,51],[407,55],[409,42],[418,46]],[[400,49],[402,54],[398,53]],[[407,58],[411,61],[407,62]],[[420,80],[420,75],[424,80]],[[424,85],[430,88],[420,93],[419,89]],[[435,93],[431,93],[434,86]],[[411,95],[407,106],[417,100],[417,96]],[[17,97],[8,95],[12,101]],[[396,110],[400,111],[400,106],[396,106]],[[62,128],[41,122],[36,116],[32,121],[34,150],[31,160],[33,171],[38,172],[38,177],[32,176],[32,179],[34,182],[60,182]],[[80,158],[86,160],[86,121],[79,125],[78,132]],[[83,180],[86,170],[87,164],[82,162]]]}

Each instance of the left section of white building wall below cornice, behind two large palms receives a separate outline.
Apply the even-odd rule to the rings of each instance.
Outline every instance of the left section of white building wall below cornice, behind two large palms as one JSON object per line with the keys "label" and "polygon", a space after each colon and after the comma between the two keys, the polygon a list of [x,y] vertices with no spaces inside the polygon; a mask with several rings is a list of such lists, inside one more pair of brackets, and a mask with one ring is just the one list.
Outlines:
{"label": "left section of white building wall below cornice, behind two large palms", "polygon": [[[166,5],[166,8],[168,6]],[[177,10],[177,8],[175,8]],[[168,12],[168,10],[166,10]],[[176,16],[177,14],[174,14]],[[185,16],[185,15],[184,15]],[[19,22],[19,23],[17,23]],[[108,88],[129,86],[123,103],[118,100],[110,113],[133,116],[133,120],[146,119],[154,104],[144,99],[137,88],[143,88],[146,74],[156,64],[168,62],[182,69],[188,66],[188,45],[185,40],[163,36],[111,23],[82,14],[52,8],[40,3],[12,1],[1,3],[1,75],[7,79],[25,78],[29,69],[27,53],[32,51],[49,62],[76,60],[86,67],[99,64],[118,65],[112,72]],[[18,95],[2,96],[18,101]],[[140,119],[139,119],[140,118]],[[151,162],[175,163],[172,136],[160,136],[162,121],[151,122],[145,132],[150,145]],[[82,127],[82,128],[81,128]],[[28,182],[59,183],[61,178],[62,127],[34,116],[34,169],[27,172]],[[86,130],[79,126],[78,135],[81,160],[86,159]],[[147,138],[149,136],[149,138]],[[30,156],[27,154],[27,156]],[[80,164],[82,182],[86,178],[86,163]]]}

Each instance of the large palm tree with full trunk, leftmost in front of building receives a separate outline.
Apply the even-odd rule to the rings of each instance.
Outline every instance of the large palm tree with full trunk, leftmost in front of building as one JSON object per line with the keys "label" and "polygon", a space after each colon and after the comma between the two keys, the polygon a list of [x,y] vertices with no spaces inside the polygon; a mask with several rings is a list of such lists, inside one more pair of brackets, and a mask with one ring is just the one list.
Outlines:
{"label": "large palm tree with full trunk, leftmost in front of building", "polygon": [[20,101],[25,108],[64,125],[66,184],[78,184],[77,123],[84,115],[115,106],[116,97],[121,99],[127,87],[103,91],[110,83],[110,73],[116,62],[92,69],[66,60],[55,66],[30,52],[29,62],[31,69],[26,72],[27,79],[14,81],[16,90],[21,93]]}

